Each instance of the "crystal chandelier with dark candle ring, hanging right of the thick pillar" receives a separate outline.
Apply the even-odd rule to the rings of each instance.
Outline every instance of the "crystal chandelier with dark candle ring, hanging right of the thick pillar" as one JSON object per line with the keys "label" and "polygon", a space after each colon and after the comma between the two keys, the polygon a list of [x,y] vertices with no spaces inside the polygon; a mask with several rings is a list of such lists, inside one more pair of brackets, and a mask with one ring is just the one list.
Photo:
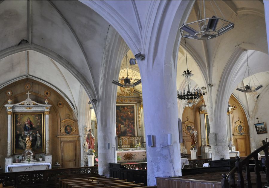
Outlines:
{"label": "crystal chandelier with dark candle ring, hanging right of the thick pillar", "polygon": [[184,104],[186,107],[192,107],[194,104],[197,104],[197,102],[200,100],[200,97],[202,96],[201,90],[193,89],[191,85],[190,77],[193,76],[191,73],[191,70],[188,70],[188,63],[187,63],[187,45],[186,45],[186,39],[185,40],[185,51],[186,51],[186,65],[187,70],[183,71],[182,76],[185,77],[185,89],[182,91],[177,91],[178,99],[180,100],[181,104]]}

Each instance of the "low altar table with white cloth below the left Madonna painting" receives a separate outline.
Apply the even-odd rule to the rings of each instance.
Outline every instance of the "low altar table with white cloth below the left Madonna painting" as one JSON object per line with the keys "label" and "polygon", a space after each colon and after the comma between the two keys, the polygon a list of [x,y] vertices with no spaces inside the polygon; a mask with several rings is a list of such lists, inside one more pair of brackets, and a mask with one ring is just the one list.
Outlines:
{"label": "low altar table with white cloth below the left Madonna painting", "polygon": [[12,165],[7,165],[7,172],[46,170],[46,169],[48,169],[48,166],[51,169],[50,163],[12,164]]}

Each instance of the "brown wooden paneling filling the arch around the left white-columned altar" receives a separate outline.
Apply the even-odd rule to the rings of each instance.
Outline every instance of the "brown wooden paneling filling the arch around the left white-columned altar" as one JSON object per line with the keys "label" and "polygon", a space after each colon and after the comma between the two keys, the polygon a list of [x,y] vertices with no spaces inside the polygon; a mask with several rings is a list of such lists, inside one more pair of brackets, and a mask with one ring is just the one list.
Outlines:
{"label": "brown wooden paneling filling the arch around the left white-columned altar", "polygon": [[[26,90],[24,88],[24,85],[26,83],[29,83],[31,85],[30,88],[30,98],[33,101],[36,101],[38,103],[44,104],[45,103],[45,95],[44,91],[49,90],[51,92],[51,95],[48,97],[49,104],[51,104],[50,108],[50,115],[49,115],[49,131],[50,131],[50,151],[52,154],[52,164],[55,164],[56,162],[59,162],[61,164],[61,147],[59,143],[59,138],[57,138],[58,135],[60,135],[60,121],[66,119],[66,115],[69,114],[71,119],[75,120],[74,126],[76,127],[76,132],[74,132],[74,135],[79,135],[78,132],[78,125],[77,125],[77,119],[75,118],[75,115],[73,113],[73,110],[68,105],[67,101],[55,90],[48,87],[45,84],[42,84],[38,81],[32,80],[32,79],[23,79],[16,81],[10,85],[7,85],[6,87],[2,88],[0,90],[0,119],[2,120],[1,125],[1,132],[0,132],[0,166],[4,167],[4,158],[7,156],[7,112],[6,108],[4,107],[5,104],[7,104],[7,100],[10,98],[12,100],[12,103],[18,103],[27,98]],[[7,97],[5,92],[7,90],[12,90],[13,95],[11,97]],[[57,106],[57,103],[59,101],[62,101],[64,106],[62,108],[59,108]],[[80,142],[80,139],[76,138],[77,142]],[[77,149],[77,158],[80,158],[80,147]]]}

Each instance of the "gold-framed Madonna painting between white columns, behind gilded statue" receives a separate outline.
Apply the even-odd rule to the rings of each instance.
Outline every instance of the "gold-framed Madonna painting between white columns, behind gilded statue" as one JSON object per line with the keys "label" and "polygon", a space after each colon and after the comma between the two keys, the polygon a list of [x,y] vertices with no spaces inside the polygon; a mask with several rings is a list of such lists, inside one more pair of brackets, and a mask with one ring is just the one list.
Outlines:
{"label": "gold-framed Madonna painting between white columns, behind gilded statue", "polygon": [[32,139],[32,150],[35,153],[45,152],[44,113],[13,113],[12,151],[22,154],[26,148],[27,135]]}

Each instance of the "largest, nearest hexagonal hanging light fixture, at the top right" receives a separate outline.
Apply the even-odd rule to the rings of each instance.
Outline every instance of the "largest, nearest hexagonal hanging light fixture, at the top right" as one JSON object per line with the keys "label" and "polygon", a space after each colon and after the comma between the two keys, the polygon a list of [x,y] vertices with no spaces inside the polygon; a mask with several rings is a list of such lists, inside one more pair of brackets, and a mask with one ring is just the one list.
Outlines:
{"label": "largest, nearest hexagonal hanging light fixture, at the top right", "polygon": [[219,18],[217,16],[217,13],[213,7],[213,4],[211,1],[209,1],[212,9],[214,10],[214,13],[216,16],[212,16],[212,18],[206,18],[206,13],[205,13],[205,4],[203,1],[204,5],[204,19],[201,19],[201,14],[202,14],[202,2],[200,1],[200,6],[198,10],[198,16],[200,15],[198,21],[193,21],[187,24],[183,24],[179,29],[181,32],[182,37],[185,38],[194,38],[198,40],[208,40],[215,38],[217,36],[222,35],[223,33],[226,33],[227,31],[231,30],[234,28],[234,24],[230,21],[225,20],[224,15],[222,14],[221,10],[219,9],[218,5],[216,4],[215,1],[215,6],[218,8],[219,12],[221,13],[222,18]]}

